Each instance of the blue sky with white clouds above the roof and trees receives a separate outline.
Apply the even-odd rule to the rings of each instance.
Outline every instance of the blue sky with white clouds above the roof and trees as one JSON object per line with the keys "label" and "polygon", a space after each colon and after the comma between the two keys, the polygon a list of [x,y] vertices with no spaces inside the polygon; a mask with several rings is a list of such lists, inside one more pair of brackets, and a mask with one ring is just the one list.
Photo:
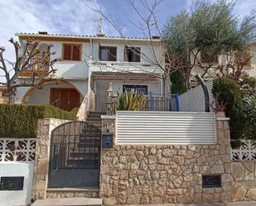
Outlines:
{"label": "blue sky with white clouds above the roof and trees", "polygon": [[[128,4],[128,0],[95,2],[105,15],[111,16],[122,27],[125,36],[142,36],[133,25],[138,22],[138,14]],[[144,13],[139,0],[134,2],[138,11]],[[191,9],[193,2],[195,0],[163,0],[157,7],[159,26],[165,24],[167,17]],[[14,50],[8,40],[15,37],[17,32],[48,31],[55,34],[95,35],[98,31],[99,13],[89,9],[85,3],[94,7],[92,0],[0,0],[0,46],[6,48],[5,57],[13,60]],[[251,9],[256,9],[256,0],[237,0],[234,12],[242,18]],[[118,36],[118,32],[107,22],[104,22],[104,33],[107,36]]]}

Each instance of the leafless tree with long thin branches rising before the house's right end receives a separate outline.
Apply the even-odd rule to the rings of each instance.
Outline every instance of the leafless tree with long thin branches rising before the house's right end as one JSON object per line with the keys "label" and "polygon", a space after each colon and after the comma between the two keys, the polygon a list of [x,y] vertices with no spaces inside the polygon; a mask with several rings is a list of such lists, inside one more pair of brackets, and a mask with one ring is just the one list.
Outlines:
{"label": "leafless tree with long thin branches rising before the house's right end", "polygon": [[[166,41],[162,39],[162,31],[157,22],[157,8],[163,0],[154,0],[152,3],[149,3],[146,0],[127,0],[128,5],[133,8],[133,12],[137,15],[136,22],[130,20],[128,20],[128,22],[130,22],[137,29],[140,36],[145,39],[147,48],[150,51],[149,54],[142,52],[142,50],[137,50],[133,41],[123,34],[123,27],[118,26],[111,14],[105,14],[94,0],[92,1],[92,4],[89,4],[84,0],[81,1],[84,2],[86,7],[89,7],[92,11],[99,13],[99,15],[104,18],[110,26],[113,26],[114,30],[118,32],[118,35],[121,36],[125,44],[129,46],[134,53],[140,55],[142,60],[145,60],[150,65],[155,66],[156,69],[153,71],[148,71],[141,67],[137,67],[137,69],[141,69],[143,73],[162,79],[164,107],[167,108],[167,80],[169,79],[171,72],[179,69],[181,56],[167,52]],[[135,5],[135,2],[139,3],[139,6],[142,7],[143,14],[138,10],[138,5]],[[159,40],[158,46],[161,48],[162,53],[160,55],[162,58],[156,48],[156,39]]]}

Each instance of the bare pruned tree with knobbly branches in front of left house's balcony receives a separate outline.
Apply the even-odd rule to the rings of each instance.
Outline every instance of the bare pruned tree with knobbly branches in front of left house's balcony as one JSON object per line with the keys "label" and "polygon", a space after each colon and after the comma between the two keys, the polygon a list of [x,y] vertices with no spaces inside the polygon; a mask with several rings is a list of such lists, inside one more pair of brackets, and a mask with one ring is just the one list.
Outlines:
{"label": "bare pruned tree with knobbly branches in front of left house's balcony", "polygon": [[[45,45],[43,51],[39,48],[37,41],[26,41],[25,46],[20,46],[18,41],[12,38],[9,40],[14,46],[15,60],[7,60],[4,58],[5,48],[0,46],[0,69],[3,71],[2,77],[5,78],[8,93],[8,102],[12,103],[12,98],[16,94],[19,87],[32,87],[41,81],[41,79],[51,78],[50,74],[54,74],[56,69],[53,65],[57,59],[50,60],[51,46]],[[27,78],[18,79],[21,75]]]}

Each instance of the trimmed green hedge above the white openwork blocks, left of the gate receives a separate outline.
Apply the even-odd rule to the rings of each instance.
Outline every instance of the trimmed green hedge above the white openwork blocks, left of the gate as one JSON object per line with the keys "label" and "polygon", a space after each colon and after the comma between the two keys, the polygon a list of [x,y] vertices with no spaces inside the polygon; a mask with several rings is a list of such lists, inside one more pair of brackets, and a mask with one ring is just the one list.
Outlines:
{"label": "trimmed green hedge above the white openwork blocks, left of the gate", "polygon": [[65,112],[51,105],[0,104],[0,137],[36,137],[38,119],[75,120],[76,111]]}

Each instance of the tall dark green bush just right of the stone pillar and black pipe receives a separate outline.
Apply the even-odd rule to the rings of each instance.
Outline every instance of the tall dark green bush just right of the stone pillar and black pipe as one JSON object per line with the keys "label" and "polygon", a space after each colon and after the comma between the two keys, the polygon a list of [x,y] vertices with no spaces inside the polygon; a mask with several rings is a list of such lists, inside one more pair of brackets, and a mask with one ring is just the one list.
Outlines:
{"label": "tall dark green bush just right of the stone pillar and black pipe", "polygon": [[212,93],[217,105],[224,105],[226,117],[230,117],[231,138],[241,138],[244,129],[244,113],[239,84],[232,79],[214,79]]}

